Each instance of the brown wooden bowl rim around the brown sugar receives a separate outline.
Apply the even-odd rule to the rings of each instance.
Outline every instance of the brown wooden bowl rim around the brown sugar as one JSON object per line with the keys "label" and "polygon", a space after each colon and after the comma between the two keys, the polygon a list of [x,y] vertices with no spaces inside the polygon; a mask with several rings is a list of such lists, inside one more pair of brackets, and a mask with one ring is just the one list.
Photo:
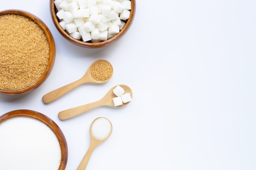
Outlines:
{"label": "brown wooden bowl rim around the brown sugar", "polygon": [[33,15],[33,14],[27,12],[27,11],[22,11],[22,10],[0,11],[0,15],[6,15],[6,14],[23,15],[27,18],[30,18],[31,20],[34,20],[41,27],[41,29],[44,31],[44,33],[47,37],[47,40],[49,42],[49,62],[48,62],[47,68],[45,69],[43,75],[34,84],[31,84],[30,86],[28,86],[24,89],[20,89],[20,90],[16,90],[16,91],[0,90],[0,94],[4,94],[4,95],[22,95],[22,94],[31,92],[34,89],[38,88],[38,86],[40,86],[45,81],[45,79],[47,79],[49,74],[51,73],[52,68],[54,66],[55,55],[56,55],[55,42],[54,42],[54,38],[52,36],[52,33],[50,32],[50,30],[48,29],[46,24],[42,20],[40,20],[40,18],[36,17],[35,15]]}

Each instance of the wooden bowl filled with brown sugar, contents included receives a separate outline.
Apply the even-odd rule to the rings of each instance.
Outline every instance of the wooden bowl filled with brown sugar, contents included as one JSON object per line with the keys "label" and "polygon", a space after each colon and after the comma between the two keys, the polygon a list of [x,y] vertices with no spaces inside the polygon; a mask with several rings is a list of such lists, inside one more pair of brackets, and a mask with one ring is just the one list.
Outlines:
{"label": "wooden bowl filled with brown sugar, contents included", "polygon": [[52,71],[56,54],[46,24],[26,11],[1,11],[0,36],[0,94],[38,88]]}

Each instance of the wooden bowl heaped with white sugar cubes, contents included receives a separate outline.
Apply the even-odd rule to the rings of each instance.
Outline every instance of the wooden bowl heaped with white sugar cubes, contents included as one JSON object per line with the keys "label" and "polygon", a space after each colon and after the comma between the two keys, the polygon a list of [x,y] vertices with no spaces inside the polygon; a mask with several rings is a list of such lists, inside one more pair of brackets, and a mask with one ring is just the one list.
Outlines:
{"label": "wooden bowl heaped with white sugar cubes, contents included", "polygon": [[51,0],[52,20],[69,42],[101,48],[121,38],[135,16],[135,0]]}

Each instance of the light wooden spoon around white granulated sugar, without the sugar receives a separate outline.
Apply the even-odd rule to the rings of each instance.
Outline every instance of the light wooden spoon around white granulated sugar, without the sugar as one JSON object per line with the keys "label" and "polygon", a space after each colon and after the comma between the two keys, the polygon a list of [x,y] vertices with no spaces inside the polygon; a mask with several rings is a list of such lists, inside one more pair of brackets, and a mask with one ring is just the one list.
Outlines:
{"label": "light wooden spoon around white granulated sugar, without the sugar", "polygon": [[[106,119],[105,117],[98,117],[97,119],[99,119],[99,118],[101,118],[101,119],[102,119],[102,118]],[[94,135],[93,135],[93,133],[92,133],[92,125],[94,124],[94,122],[95,122],[97,119],[95,119],[95,120],[92,122],[91,126],[90,126],[90,146],[89,146],[87,152],[85,153],[85,156],[83,157],[81,163],[79,164],[77,170],[85,170],[85,168],[86,168],[86,166],[87,166],[87,164],[88,164],[88,161],[89,161],[89,159],[90,159],[90,157],[91,157],[91,155],[92,155],[93,150],[94,150],[99,144],[101,144],[103,141],[106,141],[106,139],[108,139],[108,137],[109,137],[109,136],[111,135],[111,133],[112,133],[112,124],[111,124],[111,122],[107,119],[107,120],[110,122],[110,125],[111,125],[111,130],[110,130],[109,134],[106,134],[107,136],[106,136],[104,139],[97,139],[96,137],[94,137]]]}

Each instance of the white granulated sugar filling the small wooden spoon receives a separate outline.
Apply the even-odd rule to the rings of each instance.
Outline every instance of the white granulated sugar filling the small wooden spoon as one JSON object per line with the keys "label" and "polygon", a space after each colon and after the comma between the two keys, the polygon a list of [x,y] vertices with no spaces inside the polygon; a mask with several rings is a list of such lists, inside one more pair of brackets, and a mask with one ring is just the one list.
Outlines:
{"label": "white granulated sugar filling the small wooden spoon", "polygon": [[112,130],[112,125],[110,123],[110,121],[104,117],[100,117],[97,118],[93,124],[92,124],[92,128],[91,128],[91,132],[92,135],[96,138],[96,139],[106,139]]}

